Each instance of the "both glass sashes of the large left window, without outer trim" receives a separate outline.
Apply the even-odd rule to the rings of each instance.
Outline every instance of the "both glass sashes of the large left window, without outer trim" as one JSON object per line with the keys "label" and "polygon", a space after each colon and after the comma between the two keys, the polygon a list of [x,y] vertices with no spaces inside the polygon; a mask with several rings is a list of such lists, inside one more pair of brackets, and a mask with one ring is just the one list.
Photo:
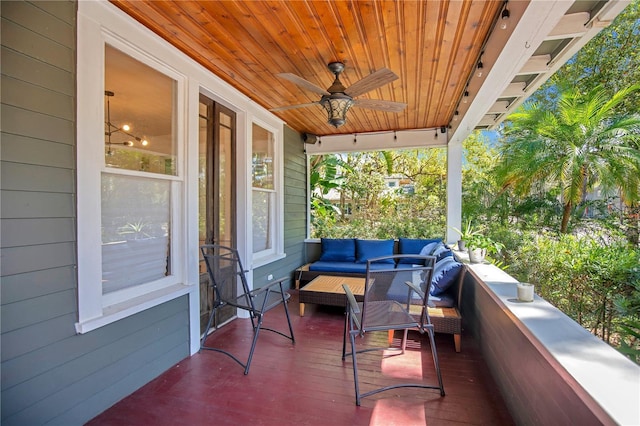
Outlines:
{"label": "both glass sashes of the large left window, without outer trim", "polygon": [[174,86],[170,77],[105,46],[106,140],[100,194],[103,295],[171,273]]}

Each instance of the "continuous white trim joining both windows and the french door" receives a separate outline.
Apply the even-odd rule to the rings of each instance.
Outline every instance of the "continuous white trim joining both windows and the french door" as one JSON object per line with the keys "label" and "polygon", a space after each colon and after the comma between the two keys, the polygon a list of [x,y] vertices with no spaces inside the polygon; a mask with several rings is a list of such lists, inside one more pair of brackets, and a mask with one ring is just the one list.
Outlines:
{"label": "continuous white trim joining both windows and the french door", "polygon": [[[120,40],[126,40],[130,44],[136,46],[144,46],[140,52],[147,52],[151,57],[163,64],[171,64],[171,66],[179,70],[179,73],[186,76],[187,87],[186,93],[186,110],[196,111],[196,114],[187,114],[186,128],[186,157],[180,159],[181,165],[185,167],[186,187],[183,191],[184,216],[182,223],[174,223],[174,231],[177,236],[183,238],[182,247],[184,253],[180,256],[184,257],[182,265],[185,270],[182,274],[185,277],[183,283],[166,287],[149,293],[142,298],[132,299],[129,303],[121,306],[103,309],[100,313],[100,303],[94,306],[95,300],[92,300],[87,294],[84,286],[84,270],[83,265],[101,264],[101,259],[96,256],[96,252],[86,252],[82,248],[87,244],[100,244],[101,239],[98,235],[92,235],[92,232],[98,232],[87,225],[84,220],[87,212],[95,211],[100,208],[100,197],[92,197],[83,199],[83,204],[78,204],[78,312],[80,321],[76,324],[79,333],[85,333],[102,327],[109,323],[113,323],[119,319],[133,315],[142,310],[165,303],[177,297],[188,295],[189,304],[189,342],[190,353],[198,352],[200,347],[200,291],[198,276],[198,259],[200,253],[198,251],[198,176],[194,172],[198,169],[198,102],[199,94],[206,93],[207,96],[221,102],[227,107],[234,110],[237,114],[237,214],[236,227],[238,238],[238,250],[243,259],[248,259],[245,266],[250,268],[247,277],[251,280],[252,268],[273,262],[277,259],[285,257],[284,254],[284,192],[282,185],[282,154],[283,150],[278,150],[281,167],[276,170],[277,179],[280,182],[279,192],[280,200],[278,207],[279,218],[279,235],[277,242],[280,254],[271,258],[260,259],[260,262],[251,262],[252,260],[252,235],[251,235],[251,181],[248,179],[250,167],[247,161],[251,161],[251,126],[252,120],[263,126],[265,129],[272,131],[278,142],[278,146],[282,147],[282,131],[284,121],[267,111],[265,108],[257,105],[253,100],[231,87],[227,82],[206,70],[202,65],[188,58],[175,47],[171,46],[167,41],[158,37],[151,30],[145,28],[136,22],[129,15],[118,9],[113,4],[106,1],[81,1],[78,3],[78,27],[77,27],[77,87],[78,87],[78,127],[77,127],[77,155],[81,158],[83,155],[89,154],[91,161],[102,161],[102,152],[93,152],[94,158],[91,158],[91,152],[82,152],[86,147],[83,141],[93,140],[95,135],[100,137],[96,142],[101,140],[103,129],[103,111],[104,93],[100,90],[90,90],[94,88],[96,82],[104,81],[104,68],[95,67],[96,62],[104,61],[103,46],[101,32],[104,27],[108,28],[112,34],[118,34]],[[117,38],[117,37],[116,37]],[[94,88],[95,89],[95,88]],[[90,150],[91,151],[91,150]],[[93,150],[95,151],[95,150]],[[85,158],[85,157],[82,157]],[[100,163],[95,163],[100,164]],[[88,178],[88,179],[87,179]],[[95,179],[98,179],[96,182]],[[99,174],[84,176],[78,171],[77,191],[78,194],[85,194],[87,190],[99,188]],[[97,203],[97,207],[96,204]],[[99,210],[98,210],[99,211]],[[174,253],[174,255],[178,255]],[[146,300],[143,300],[146,299]],[[97,301],[101,301],[101,294],[97,297]],[[92,316],[95,315],[95,316]]]}

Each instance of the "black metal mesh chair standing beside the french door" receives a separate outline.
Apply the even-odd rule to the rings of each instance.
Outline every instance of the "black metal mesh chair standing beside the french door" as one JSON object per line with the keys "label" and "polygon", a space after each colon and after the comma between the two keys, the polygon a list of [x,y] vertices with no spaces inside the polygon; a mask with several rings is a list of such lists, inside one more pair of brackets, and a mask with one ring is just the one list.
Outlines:
{"label": "black metal mesh chair standing beside the french door", "polygon": [[[207,327],[200,340],[200,349],[221,352],[228,355],[244,367],[244,374],[249,374],[249,367],[251,366],[251,360],[253,359],[253,352],[256,347],[256,342],[258,341],[260,330],[272,331],[295,343],[289,309],[287,308],[287,302],[291,295],[284,291],[282,284],[287,278],[280,278],[263,287],[250,290],[247,284],[245,270],[242,267],[242,262],[236,249],[217,244],[205,244],[200,246],[200,251],[204,257],[207,272],[209,273],[210,285],[214,291],[213,307],[209,321],[207,322]],[[238,292],[241,294],[238,294]],[[287,316],[289,335],[262,326],[265,314],[281,304],[284,306],[284,312]],[[253,341],[246,362],[240,361],[236,356],[223,349],[205,346],[205,341],[209,337],[209,330],[211,329],[213,319],[216,313],[225,306],[247,311],[251,318]]]}

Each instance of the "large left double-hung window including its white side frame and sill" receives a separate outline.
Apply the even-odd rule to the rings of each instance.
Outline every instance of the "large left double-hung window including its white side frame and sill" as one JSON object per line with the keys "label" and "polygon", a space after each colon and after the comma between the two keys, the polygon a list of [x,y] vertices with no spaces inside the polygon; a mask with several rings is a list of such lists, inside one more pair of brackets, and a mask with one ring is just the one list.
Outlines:
{"label": "large left double-hung window including its white side frame and sill", "polygon": [[[119,39],[99,38],[102,58],[78,83],[79,332],[187,292],[176,232],[184,80]],[[91,115],[98,99],[102,114]]]}

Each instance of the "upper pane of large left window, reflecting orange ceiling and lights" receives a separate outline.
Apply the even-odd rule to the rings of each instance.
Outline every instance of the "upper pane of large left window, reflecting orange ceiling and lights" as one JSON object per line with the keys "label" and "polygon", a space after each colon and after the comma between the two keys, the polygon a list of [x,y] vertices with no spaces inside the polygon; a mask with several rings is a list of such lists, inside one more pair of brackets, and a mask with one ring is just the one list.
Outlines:
{"label": "upper pane of large left window, reflecting orange ceiling and lights", "polygon": [[175,175],[175,81],[109,45],[105,64],[106,166]]}

